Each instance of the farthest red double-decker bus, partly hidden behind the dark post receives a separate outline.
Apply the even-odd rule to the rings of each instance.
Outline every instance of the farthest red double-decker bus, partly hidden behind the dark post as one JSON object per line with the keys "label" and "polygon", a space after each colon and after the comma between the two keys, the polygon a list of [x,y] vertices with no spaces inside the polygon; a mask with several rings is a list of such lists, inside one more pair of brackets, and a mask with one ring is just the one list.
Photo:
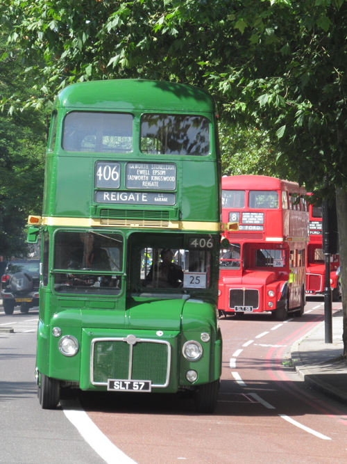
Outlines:
{"label": "farthest red double-decker bus, partly hidden behind the dark post", "polygon": [[[323,255],[322,208],[309,205],[310,241],[307,247],[306,295],[322,295],[325,282],[325,261]],[[341,282],[339,279],[339,255],[330,255],[330,287],[332,301],[339,301]]]}

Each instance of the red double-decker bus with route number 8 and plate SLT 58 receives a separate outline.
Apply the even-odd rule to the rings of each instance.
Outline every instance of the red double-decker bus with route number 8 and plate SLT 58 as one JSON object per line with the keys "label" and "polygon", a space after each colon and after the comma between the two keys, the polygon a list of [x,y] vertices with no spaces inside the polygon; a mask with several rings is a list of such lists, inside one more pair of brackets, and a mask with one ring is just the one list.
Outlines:
{"label": "red double-decker bus with route number 8 and plate SLT 58", "polygon": [[220,256],[219,314],[271,311],[278,321],[289,312],[302,316],[309,222],[305,190],[260,175],[222,177],[221,185],[230,246]]}

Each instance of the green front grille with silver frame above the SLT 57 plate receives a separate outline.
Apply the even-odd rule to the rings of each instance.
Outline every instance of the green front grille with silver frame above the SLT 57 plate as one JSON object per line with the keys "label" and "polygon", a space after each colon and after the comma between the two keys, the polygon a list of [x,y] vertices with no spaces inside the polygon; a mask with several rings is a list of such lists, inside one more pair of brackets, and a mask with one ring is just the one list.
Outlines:
{"label": "green front grille with silver frame above the SLT 57 plate", "polygon": [[110,378],[145,380],[151,381],[152,387],[166,387],[169,384],[170,353],[171,346],[164,340],[137,339],[134,335],[94,339],[92,384],[107,385]]}

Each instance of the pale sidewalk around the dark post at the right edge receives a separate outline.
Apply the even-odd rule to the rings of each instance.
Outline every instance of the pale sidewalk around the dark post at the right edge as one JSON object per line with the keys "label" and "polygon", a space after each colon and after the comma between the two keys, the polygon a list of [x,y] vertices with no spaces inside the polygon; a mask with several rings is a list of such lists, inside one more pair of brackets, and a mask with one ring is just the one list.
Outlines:
{"label": "pale sidewalk around the dark post at the right edge", "polygon": [[332,317],[332,343],[325,343],[321,322],[291,346],[291,360],[299,376],[328,397],[347,405],[347,361],[341,359],[342,310]]}

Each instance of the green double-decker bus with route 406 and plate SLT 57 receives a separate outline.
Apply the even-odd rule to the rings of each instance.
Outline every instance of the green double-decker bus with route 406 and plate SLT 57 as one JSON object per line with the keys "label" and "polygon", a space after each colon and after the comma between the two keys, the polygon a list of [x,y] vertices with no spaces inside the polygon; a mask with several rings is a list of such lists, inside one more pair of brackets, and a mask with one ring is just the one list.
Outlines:
{"label": "green double-decker bus with route 406 and plate SLT 57", "polygon": [[216,118],[204,90],[163,81],[77,83],[56,97],[42,216],[28,228],[42,244],[42,408],[68,388],[194,390],[198,411],[213,411]]}

